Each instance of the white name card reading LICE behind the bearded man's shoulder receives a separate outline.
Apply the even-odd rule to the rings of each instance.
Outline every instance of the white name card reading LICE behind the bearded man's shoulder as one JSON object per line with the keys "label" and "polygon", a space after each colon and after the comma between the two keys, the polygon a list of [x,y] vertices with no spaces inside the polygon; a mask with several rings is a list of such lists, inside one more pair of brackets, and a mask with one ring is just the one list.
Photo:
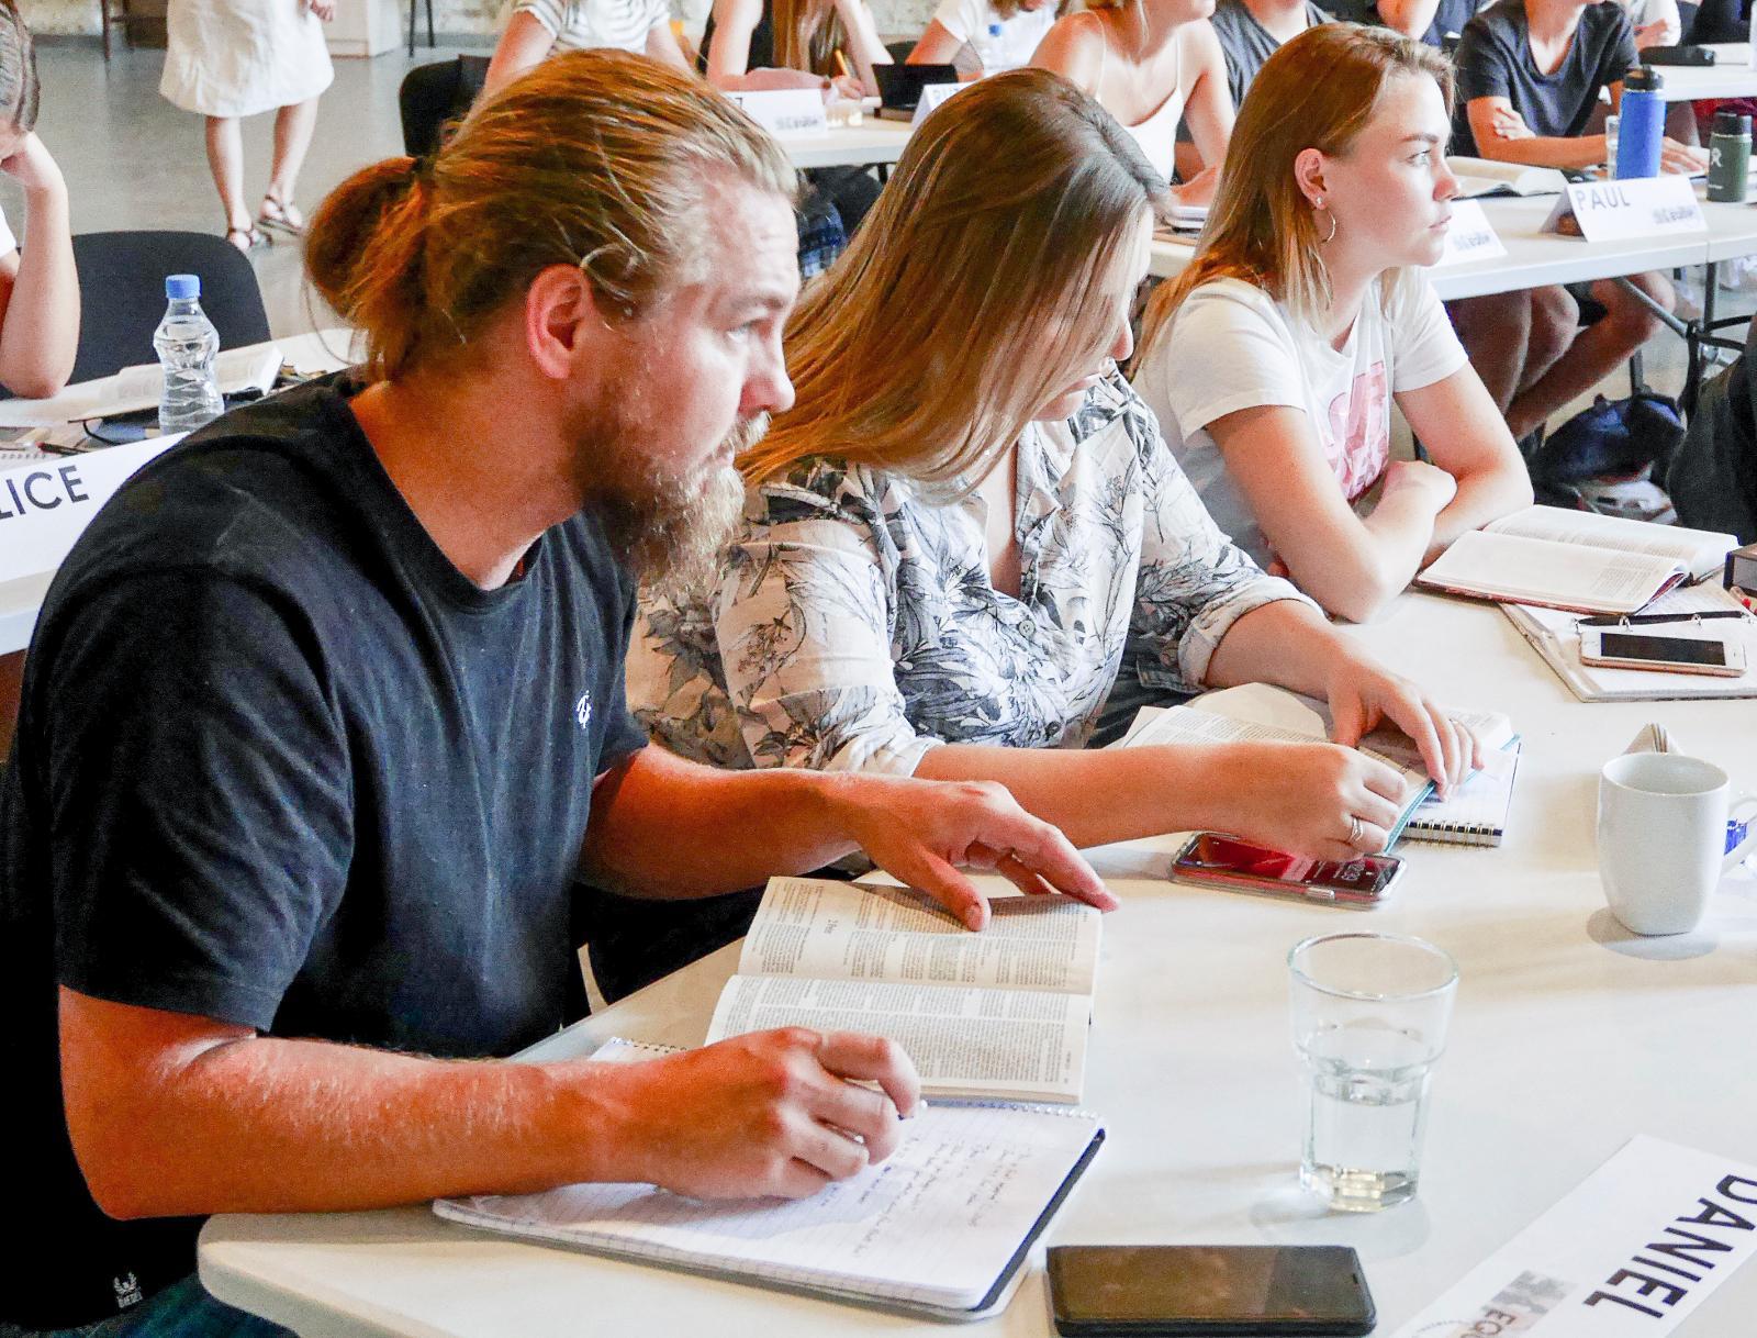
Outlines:
{"label": "white name card reading LICE behind the bearded man's shoulder", "polygon": [[53,571],[128,476],[183,436],[155,436],[0,473],[0,582]]}

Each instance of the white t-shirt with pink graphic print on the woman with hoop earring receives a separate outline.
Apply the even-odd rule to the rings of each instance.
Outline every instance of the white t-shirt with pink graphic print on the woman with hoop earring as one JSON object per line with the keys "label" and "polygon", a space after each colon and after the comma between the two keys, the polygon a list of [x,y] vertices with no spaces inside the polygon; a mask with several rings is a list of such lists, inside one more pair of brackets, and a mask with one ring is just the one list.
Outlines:
{"label": "white t-shirt with pink graphic print on the woman with hoop earring", "polygon": [[1272,557],[1207,425],[1239,410],[1305,410],[1342,496],[1358,505],[1392,457],[1392,396],[1442,382],[1467,362],[1421,273],[1374,280],[1342,348],[1244,280],[1204,283],[1135,369],[1214,522],[1258,563]]}

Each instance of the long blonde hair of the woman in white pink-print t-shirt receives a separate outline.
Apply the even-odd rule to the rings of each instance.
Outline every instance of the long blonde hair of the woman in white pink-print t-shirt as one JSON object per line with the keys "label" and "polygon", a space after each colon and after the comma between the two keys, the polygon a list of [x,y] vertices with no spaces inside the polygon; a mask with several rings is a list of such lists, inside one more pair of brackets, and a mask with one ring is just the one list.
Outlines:
{"label": "long blonde hair of the woman in white pink-print t-shirt", "polygon": [[1200,250],[1147,304],[1142,357],[1184,297],[1221,278],[1254,283],[1293,315],[1316,322],[1330,304],[1325,234],[1293,176],[1293,160],[1304,149],[1346,155],[1386,84],[1416,76],[1439,84],[1450,114],[1451,63],[1388,28],[1320,23],[1263,63],[1239,109]]}

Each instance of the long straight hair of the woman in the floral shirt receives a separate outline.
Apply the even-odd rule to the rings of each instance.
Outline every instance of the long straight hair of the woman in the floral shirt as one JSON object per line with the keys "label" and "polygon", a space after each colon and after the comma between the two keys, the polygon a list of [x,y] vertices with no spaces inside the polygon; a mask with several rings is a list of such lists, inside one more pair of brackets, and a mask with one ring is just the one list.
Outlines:
{"label": "long straight hair of the woman in the floral shirt", "polygon": [[973,487],[1116,338],[1126,306],[1109,290],[1165,204],[1128,132],[1061,76],[958,93],[806,288],[787,327],[796,403],[740,459],[745,478],[824,455]]}

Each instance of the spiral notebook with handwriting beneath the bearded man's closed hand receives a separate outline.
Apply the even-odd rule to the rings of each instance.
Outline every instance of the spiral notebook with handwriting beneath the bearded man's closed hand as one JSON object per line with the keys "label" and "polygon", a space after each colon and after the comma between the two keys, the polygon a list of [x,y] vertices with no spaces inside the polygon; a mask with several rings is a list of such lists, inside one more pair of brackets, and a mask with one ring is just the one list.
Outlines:
{"label": "spiral notebook with handwriting beneath the bearded man's closed hand", "polygon": [[[610,1041],[594,1058],[659,1046]],[[655,1185],[439,1199],[452,1222],[935,1319],[1001,1308],[1103,1143],[1088,1111],[935,1102],[898,1150],[810,1199],[705,1203]]]}

